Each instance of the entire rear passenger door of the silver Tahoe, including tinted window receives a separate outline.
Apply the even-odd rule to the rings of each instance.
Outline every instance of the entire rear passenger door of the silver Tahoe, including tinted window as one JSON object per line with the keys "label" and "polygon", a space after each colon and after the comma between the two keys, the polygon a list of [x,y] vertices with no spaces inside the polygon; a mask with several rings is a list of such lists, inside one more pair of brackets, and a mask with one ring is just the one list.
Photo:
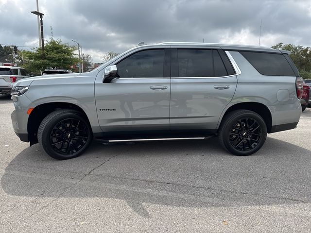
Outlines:
{"label": "entire rear passenger door of the silver Tahoe, including tinted window", "polygon": [[216,49],[172,50],[171,130],[216,129],[237,85],[224,56]]}

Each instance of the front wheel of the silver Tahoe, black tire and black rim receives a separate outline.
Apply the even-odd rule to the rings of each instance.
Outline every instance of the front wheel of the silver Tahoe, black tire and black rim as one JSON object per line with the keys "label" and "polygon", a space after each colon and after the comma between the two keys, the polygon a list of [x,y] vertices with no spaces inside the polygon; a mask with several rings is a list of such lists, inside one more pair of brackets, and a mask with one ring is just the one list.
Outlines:
{"label": "front wheel of the silver Tahoe, black tire and black rim", "polygon": [[38,129],[38,142],[54,159],[81,155],[90,145],[93,133],[88,121],[74,110],[62,109],[46,116]]}

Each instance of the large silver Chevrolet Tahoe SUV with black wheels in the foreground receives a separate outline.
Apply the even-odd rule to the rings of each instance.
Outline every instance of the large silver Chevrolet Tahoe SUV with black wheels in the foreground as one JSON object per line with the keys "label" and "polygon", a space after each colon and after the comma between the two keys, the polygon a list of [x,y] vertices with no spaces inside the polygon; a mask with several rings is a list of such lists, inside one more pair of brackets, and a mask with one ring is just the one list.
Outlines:
{"label": "large silver Chevrolet Tahoe SUV with black wheels in the foreground", "polygon": [[258,151],[267,133],[294,129],[302,78],[287,51],[161,43],[137,46],[88,73],[15,83],[13,128],[55,159],[107,142],[218,135],[236,155]]}

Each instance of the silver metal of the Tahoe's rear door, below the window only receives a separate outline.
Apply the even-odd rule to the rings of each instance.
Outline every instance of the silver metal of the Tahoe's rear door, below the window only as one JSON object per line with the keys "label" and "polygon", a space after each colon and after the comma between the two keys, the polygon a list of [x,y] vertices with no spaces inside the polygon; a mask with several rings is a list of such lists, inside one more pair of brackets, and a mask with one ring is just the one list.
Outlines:
{"label": "silver metal of the Tahoe's rear door, below the window only", "polygon": [[[214,86],[226,85],[227,89]],[[232,100],[236,76],[226,78],[172,78],[171,130],[216,129],[219,116]]]}

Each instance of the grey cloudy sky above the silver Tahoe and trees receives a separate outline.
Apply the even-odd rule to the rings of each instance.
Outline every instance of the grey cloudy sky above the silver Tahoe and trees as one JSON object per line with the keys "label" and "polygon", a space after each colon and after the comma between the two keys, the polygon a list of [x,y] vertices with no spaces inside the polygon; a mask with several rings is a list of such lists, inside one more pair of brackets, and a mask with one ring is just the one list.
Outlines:
{"label": "grey cloudy sky above the silver Tahoe and trees", "polygon": [[[38,0],[44,37],[100,62],[144,41],[311,46],[311,0]],[[0,0],[0,44],[38,46],[36,0]],[[23,49],[20,47],[20,49]],[[27,49],[27,48],[24,48]]]}

